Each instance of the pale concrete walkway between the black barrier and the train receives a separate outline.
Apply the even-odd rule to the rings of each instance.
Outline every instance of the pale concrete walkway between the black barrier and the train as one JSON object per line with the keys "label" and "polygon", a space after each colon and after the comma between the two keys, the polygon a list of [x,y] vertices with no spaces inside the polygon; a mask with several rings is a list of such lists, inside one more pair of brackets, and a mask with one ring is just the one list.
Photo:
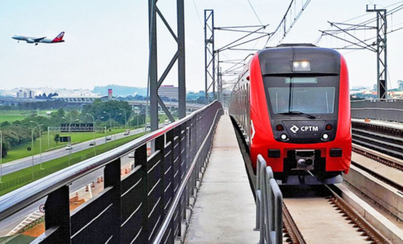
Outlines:
{"label": "pale concrete walkway between the black barrier and the train", "polygon": [[218,122],[186,244],[255,244],[255,200],[228,115]]}

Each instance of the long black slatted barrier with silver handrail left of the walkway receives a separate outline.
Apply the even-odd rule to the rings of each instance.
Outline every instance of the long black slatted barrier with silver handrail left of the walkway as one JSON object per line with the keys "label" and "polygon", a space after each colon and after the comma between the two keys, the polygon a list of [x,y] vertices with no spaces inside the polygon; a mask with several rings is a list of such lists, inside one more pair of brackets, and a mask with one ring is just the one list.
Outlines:
{"label": "long black slatted barrier with silver handrail left of the walkway", "polygon": [[[223,114],[212,102],[132,142],[62,169],[0,197],[0,221],[46,198],[45,243],[174,243],[199,172]],[[147,144],[155,148],[147,155]],[[134,151],[133,170],[121,177],[121,158]],[[103,168],[104,189],[74,210],[70,184]]]}

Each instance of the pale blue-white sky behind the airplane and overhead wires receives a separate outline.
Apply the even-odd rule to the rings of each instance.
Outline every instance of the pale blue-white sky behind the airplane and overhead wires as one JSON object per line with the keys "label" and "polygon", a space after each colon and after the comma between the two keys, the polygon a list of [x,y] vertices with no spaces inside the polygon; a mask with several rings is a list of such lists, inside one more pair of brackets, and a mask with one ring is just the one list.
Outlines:
{"label": "pale blue-white sky behind the airplane and overhead wires", "polygon": [[[186,86],[188,91],[204,90],[203,10],[214,9],[215,26],[258,25],[259,20],[274,31],[290,0],[185,0]],[[118,3],[117,3],[118,2]],[[397,0],[312,0],[283,43],[312,43],[318,29],[329,29],[327,20],[341,22],[365,13],[366,4],[385,7]],[[403,4],[403,1],[402,1]],[[176,31],[176,1],[159,0],[158,8]],[[357,23],[374,17],[368,14]],[[259,19],[259,20],[258,20]],[[388,19],[389,29],[402,27],[403,11]],[[161,75],[176,51],[175,41],[157,22],[158,74]],[[34,44],[11,39],[26,35],[53,39],[65,32],[63,43]],[[365,35],[375,36],[368,31]],[[221,47],[239,37],[238,33],[215,32]],[[388,86],[403,80],[401,59],[403,30],[388,35]],[[265,40],[249,46],[263,48]],[[340,41],[322,39],[318,44],[332,47]],[[349,68],[350,87],[373,86],[376,82],[376,55],[368,50],[344,54]],[[249,52],[227,51],[220,57],[243,59]],[[225,68],[225,67],[223,67]],[[1,0],[0,1],[0,89],[16,87],[84,88],[118,84],[147,86],[148,1],[147,0]],[[174,65],[164,84],[177,84]]]}

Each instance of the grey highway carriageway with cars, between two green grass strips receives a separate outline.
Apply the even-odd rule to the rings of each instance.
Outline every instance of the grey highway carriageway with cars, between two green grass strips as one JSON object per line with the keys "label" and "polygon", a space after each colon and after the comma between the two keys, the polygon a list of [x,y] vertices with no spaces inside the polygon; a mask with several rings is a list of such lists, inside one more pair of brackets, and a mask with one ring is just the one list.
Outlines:
{"label": "grey highway carriageway with cars, between two green grass strips", "polygon": [[[160,124],[160,127],[163,127],[164,124]],[[135,130],[131,130],[130,131],[130,135],[134,135],[134,134],[138,134],[144,132],[144,128],[139,128],[139,129],[135,129]],[[120,138],[124,138],[126,137],[124,135],[124,132],[121,133],[117,133],[114,135],[110,135],[111,140],[107,141],[107,142],[111,142]],[[57,159],[63,156],[67,156],[69,154],[69,151],[71,151],[70,153],[75,153],[75,152],[79,152],[88,148],[91,148],[93,146],[89,145],[89,142],[91,142],[92,140],[86,141],[86,142],[80,142],[77,144],[74,144],[73,142],[73,149],[71,150],[66,150],[64,147],[59,148],[59,149],[55,149],[55,150],[51,150],[48,152],[43,152],[42,153],[42,163],[49,161],[49,160],[53,160],[53,159]],[[106,142],[106,143],[107,143]],[[96,145],[101,145],[105,143],[105,137],[101,137],[98,139],[95,139],[95,143]],[[3,175],[27,168],[32,166],[32,164],[40,164],[41,163],[41,157],[40,154],[36,154],[34,155],[34,160],[32,162],[32,156],[29,157],[25,157],[22,159],[18,159],[18,160],[14,160],[8,163],[3,163],[2,164],[2,173]]]}

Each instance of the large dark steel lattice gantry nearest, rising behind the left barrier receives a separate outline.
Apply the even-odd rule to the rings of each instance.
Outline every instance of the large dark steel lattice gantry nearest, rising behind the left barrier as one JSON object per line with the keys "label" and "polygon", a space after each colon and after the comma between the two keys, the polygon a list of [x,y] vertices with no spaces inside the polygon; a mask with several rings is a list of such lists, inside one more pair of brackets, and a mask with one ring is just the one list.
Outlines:
{"label": "large dark steel lattice gantry nearest, rising behind the left barrier", "polygon": [[[157,0],[148,0],[148,35],[149,35],[149,62],[148,62],[148,83],[150,94],[150,126],[151,131],[158,129],[158,104],[167,114],[171,122],[174,121],[167,106],[158,96],[158,88],[161,86],[174,63],[178,61],[178,115],[179,118],[186,116],[186,82],[185,82],[185,20],[184,20],[184,0],[176,0],[177,10],[177,32],[173,32],[168,21],[157,7]],[[177,43],[177,50],[170,63],[158,78],[157,68],[157,15],[167,27],[172,38]]]}

